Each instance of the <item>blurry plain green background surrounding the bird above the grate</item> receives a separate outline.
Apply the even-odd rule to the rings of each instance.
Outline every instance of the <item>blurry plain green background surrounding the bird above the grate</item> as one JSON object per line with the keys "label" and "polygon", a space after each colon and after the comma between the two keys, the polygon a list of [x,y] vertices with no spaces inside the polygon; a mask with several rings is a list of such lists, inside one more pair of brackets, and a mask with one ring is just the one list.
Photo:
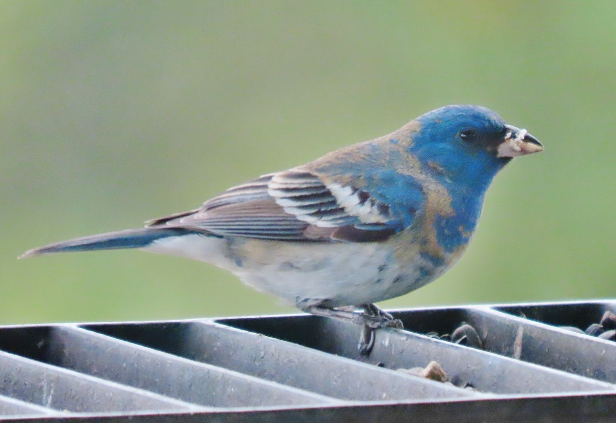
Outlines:
{"label": "blurry plain green background surrounding the bird above the grate", "polygon": [[294,312],[200,262],[18,261],[476,103],[546,146],[410,307],[616,297],[614,2],[0,2],[0,324]]}

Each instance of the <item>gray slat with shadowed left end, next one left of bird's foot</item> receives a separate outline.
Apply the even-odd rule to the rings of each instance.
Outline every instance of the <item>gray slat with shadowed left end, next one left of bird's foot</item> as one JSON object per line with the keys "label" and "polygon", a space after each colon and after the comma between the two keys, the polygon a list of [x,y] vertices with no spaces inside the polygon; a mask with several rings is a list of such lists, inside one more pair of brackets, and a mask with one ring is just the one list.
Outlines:
{"label": "gray slat with shadowed left end, next one left of bird's foot", "polygon": [[[113,324],[88,328],[191,360],[345,400],[474,395],[451,385],[365,365],[211,322]],[[357,339],[354,345],[357,345]],[[357,347],[354,348],[357,353]]]}

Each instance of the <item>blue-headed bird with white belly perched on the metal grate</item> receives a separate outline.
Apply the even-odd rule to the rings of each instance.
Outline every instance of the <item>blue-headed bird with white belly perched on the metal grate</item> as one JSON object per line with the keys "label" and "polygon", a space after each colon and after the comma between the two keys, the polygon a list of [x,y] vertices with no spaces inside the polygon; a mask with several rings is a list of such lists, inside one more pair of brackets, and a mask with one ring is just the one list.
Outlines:
{"label": "blue-headed bird with white belly perched on the metal grate", "polygon": [[375,302],[436,280],[466,250],[495,175],[543,150],[525,129],[476,105],[429,111],[389,135],[229,188],[145,227],[31,249],[136,248],[224,268],[313,315],[375,330],[402,323]]}

